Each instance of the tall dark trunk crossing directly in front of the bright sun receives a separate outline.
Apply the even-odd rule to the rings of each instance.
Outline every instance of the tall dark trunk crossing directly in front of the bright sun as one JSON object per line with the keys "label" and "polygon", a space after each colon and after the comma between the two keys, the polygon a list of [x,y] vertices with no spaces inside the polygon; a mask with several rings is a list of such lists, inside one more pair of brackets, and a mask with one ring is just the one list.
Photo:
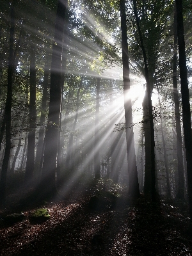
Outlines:
{"label": "tall dark trunk crossing directly in front of the bright sun", "polygon": [[125,129],[127,142],[127,161],[129,173],[129,193],[133,198],[140,195],[138,172],[136,166],[136,155],[134,148],[134,133],[132,125],[132,103],[129,97],[130,78],[129,78],[129,54],[127,44],[127,24],[125,13],[125,0],[120,0],[120,15],[122,29],[122,61],[124,79],[124,108],[125,108]]}

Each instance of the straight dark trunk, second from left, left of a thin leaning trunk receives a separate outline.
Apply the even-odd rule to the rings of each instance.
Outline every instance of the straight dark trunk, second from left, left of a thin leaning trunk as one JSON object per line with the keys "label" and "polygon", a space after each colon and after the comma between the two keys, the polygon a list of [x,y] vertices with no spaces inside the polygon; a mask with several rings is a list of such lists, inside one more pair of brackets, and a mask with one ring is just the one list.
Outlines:
{"label": "straight dark trunk, second from left, left of a thin leaning trunk", "polygon": [[33,184],[33,172],[35,164],[35,129],[36,129],[36,70],[35,70],[35,47],[30,52],[30,98],[29,98],[29,134],[28,153],[26,162],[26,182]]}

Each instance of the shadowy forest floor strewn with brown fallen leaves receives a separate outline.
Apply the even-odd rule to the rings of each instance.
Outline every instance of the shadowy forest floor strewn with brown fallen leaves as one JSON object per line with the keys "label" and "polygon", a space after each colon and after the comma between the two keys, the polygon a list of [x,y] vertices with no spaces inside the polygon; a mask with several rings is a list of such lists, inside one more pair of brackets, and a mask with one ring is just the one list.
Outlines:
{"label": "shadowy forest floor strewn with brown fallen leaves", "polygon": [[49,210],[48,220],[31,220],[31,205],[23,220],[8,223],[4,216],[13,209],[2,209],[0,255],[192,255],[186,205],[163,199],[150,204],[143,196],[134,204],[126,198],[110,204],[104,196],[90,204],[90,198],[95,200],[79,195],[39,205]]}

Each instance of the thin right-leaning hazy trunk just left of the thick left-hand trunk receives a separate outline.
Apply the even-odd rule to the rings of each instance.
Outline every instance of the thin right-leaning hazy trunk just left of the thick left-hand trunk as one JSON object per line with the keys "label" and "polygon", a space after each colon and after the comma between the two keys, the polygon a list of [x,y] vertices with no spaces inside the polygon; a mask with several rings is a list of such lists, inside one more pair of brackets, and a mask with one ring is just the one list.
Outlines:
{"label": "thin right-leaning hazy trunk just left of the thick left-hand trunk", "polygon": [[41,173],[41,159],[42,159],[42,150],[44,144],[44,132],[45,132],[45,111],[47,108],[47,90],[49,83],[49,67],[48,67],[48,56],[47,60],[45,60],[45,68],[44,68],[44,83],[43,83],[43,96],[42,96],[42,107],[41,107],[41,116],[40,116],[40,128],[38,132],[38,144],[36,147],[36,157],[35,157],[35,177],[36,182],[40,180]]}

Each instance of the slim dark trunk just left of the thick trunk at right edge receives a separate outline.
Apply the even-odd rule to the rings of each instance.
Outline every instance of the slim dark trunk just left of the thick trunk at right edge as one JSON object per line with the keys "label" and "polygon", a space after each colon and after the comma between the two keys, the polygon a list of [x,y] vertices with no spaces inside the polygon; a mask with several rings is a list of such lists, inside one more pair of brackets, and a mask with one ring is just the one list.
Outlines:
{"label": "slim dark trunk just left of the thick trunk at right edge", "polygon": [[184,200],[184,166],[182,157],[182,136],[180,127],[180,110],[179,110],[179,95],[177,90],[177,12],[176,4],[174,10],[174,52],[173,52],[173,97],[175,103],[175,122],[176,122],[176,140],[177,140],[177,172],[178,186],[176,196]]}

